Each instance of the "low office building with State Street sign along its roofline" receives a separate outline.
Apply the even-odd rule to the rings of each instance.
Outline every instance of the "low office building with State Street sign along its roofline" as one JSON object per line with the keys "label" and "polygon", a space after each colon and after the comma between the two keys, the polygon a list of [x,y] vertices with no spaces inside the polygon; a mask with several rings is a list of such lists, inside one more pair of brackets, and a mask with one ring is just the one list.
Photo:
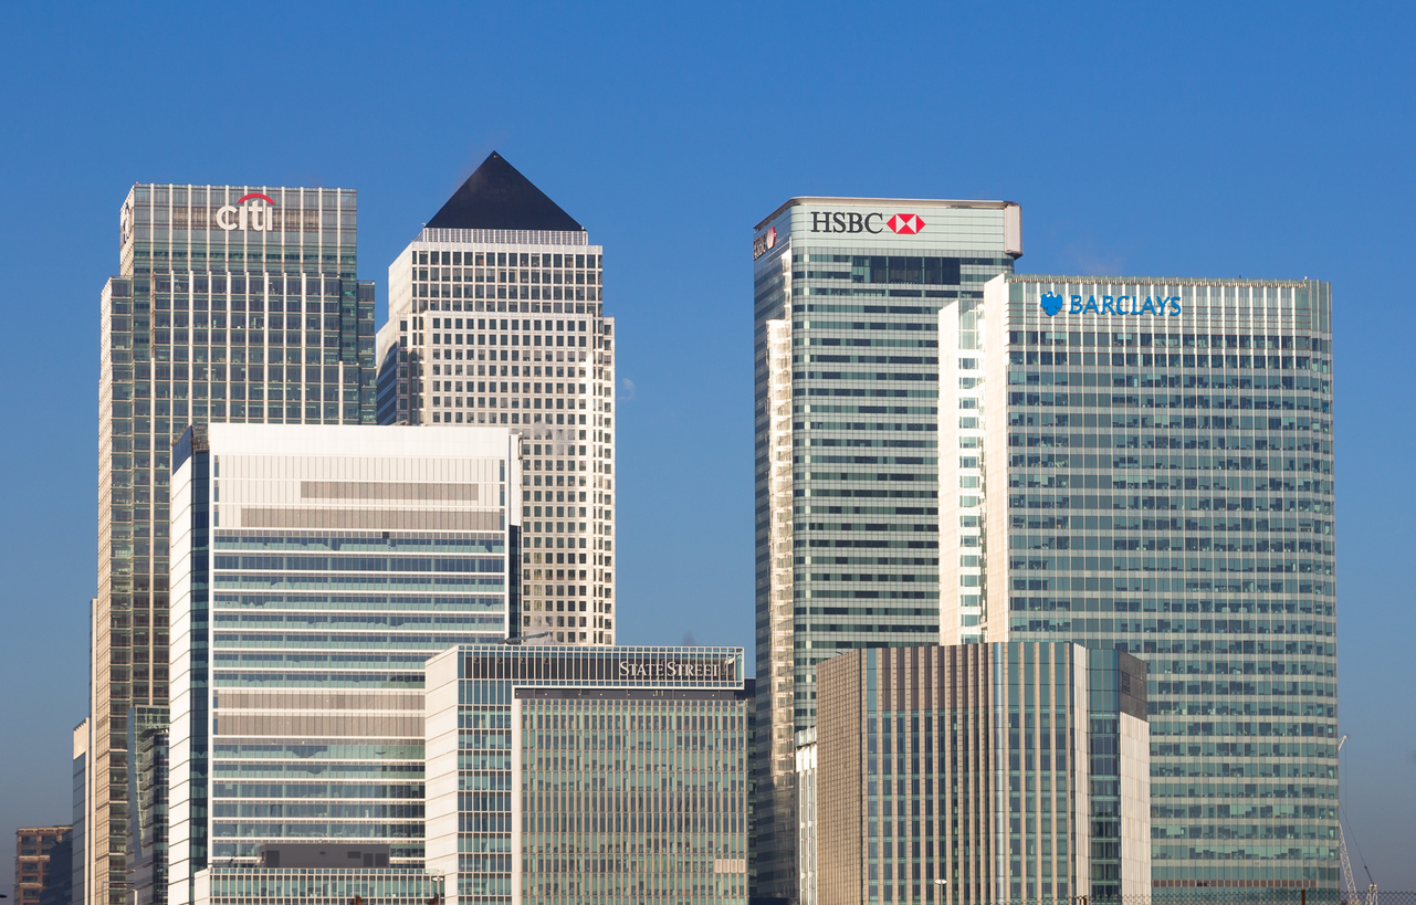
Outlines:
{"label": "low office building with State Street sign along its roofline", "polygon": [[460,647],[426,701],[449,905],[746,905],[741,647]]}

